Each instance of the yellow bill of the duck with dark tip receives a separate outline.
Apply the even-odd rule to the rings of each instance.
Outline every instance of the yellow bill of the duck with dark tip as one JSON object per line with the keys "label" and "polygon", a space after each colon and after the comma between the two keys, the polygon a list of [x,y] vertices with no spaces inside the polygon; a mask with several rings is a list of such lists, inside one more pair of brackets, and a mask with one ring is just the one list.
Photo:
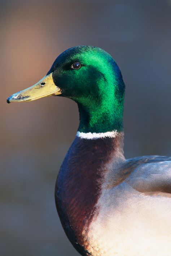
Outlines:
{"label": "yellow bill of the duck with dark tip", "polygon": [[23,101],[35,101],[43,97],[56,96],[61,94],[61,89],[58,88],[52,78],[52,73],[43,77],[38,83],[31,87],[14,93],[6,100],[10,102],[23,102]]}

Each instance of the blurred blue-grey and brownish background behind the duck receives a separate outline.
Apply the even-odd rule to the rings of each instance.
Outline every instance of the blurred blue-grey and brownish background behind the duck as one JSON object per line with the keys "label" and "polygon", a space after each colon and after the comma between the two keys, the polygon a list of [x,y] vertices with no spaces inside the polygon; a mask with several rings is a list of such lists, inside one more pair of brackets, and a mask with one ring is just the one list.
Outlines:
{"label": "blurred blue-grey and brownish background behind the duck", "polygon": [[93,45],[126,84],[127,158],[171,155],[171,1],[0,1],[0,255],[76,256],[54,202],[58,170],[78,127],[77,106],[50,97],[6,104],[67,48]]}

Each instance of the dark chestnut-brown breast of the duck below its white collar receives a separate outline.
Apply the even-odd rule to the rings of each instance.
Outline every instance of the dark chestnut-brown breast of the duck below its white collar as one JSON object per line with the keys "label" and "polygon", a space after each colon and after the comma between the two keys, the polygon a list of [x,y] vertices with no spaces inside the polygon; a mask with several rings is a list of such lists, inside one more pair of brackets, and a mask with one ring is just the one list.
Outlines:
{"label": "dark chestnut-brown breast of the duck below its white collar", "polygon": [[120,147],[120,136],[87,140],[76,137],[58,174],[55,199],[63,229],[82,255],[86,251],[86,233],[98,209],[106,163]]}

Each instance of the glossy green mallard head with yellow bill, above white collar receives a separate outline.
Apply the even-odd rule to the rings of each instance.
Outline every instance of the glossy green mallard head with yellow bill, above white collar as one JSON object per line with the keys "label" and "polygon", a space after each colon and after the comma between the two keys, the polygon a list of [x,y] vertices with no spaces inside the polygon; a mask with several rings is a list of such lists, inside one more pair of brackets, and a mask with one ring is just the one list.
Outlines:
{"label": "glossy green mallard head with yellow bill, above white collar", "polygon": [[123,130],[124,82],[114,59],[93,46],[64,51],[35,85],[11,95],[7,102],[60,96],[78,103],[80,132]]}

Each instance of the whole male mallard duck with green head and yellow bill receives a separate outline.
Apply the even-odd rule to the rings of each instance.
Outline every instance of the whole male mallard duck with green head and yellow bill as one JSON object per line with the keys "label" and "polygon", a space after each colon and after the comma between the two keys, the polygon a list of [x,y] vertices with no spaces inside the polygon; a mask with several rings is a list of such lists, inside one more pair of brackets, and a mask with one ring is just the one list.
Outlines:
{"label": "whole male mallard duck with green head and yellow bill", "polygon": [[171,157],[123,155],[124,82],[104,50],[63,52],[37,84],[7,102],[73,99],[80,124],[58,174],[63,229],[81,255],[171,255]]}

